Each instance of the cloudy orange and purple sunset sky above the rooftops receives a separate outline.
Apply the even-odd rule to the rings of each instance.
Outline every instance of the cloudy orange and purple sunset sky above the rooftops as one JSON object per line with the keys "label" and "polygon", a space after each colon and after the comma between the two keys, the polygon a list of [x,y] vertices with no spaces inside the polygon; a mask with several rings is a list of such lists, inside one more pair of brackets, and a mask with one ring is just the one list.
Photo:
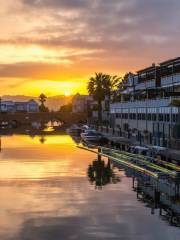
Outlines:
{"label": "cloudy orange and purple sunset sky above the rooftops", "polygon": [[86,93],[180,56],[179,0],[1,0],[0,95]]}

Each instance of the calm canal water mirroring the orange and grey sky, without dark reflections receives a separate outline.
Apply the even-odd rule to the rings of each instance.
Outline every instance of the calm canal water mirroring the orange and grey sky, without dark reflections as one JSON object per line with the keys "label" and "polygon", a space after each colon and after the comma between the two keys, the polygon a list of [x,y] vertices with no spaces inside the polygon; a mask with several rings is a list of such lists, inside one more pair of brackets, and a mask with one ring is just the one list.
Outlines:
{"label": "calm canal water mirroring the orange and grey sky, without dark reflections", "polygon": [[1,147],[1,240],[180,239],[137,200],[123,171],[95,187],[87,171],[96,156],[69,136],[2,137]]}

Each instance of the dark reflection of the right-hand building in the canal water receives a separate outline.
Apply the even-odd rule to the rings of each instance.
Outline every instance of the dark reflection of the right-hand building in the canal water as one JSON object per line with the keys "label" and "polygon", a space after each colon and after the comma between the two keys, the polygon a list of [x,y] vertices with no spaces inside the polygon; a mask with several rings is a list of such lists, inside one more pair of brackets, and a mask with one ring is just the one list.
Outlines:
{"label": "dark reflection of the right-hand building in the canal water", "polygon": [[[115,165],[122,169],[122,166]],[[151,214],[158,212],[162,220],[180,227],[180,182],[167,177],[154,179],[128,167],[123,169],[126,176],[132,178],[132,188],[137,193],[137,199],[151,209]]]}

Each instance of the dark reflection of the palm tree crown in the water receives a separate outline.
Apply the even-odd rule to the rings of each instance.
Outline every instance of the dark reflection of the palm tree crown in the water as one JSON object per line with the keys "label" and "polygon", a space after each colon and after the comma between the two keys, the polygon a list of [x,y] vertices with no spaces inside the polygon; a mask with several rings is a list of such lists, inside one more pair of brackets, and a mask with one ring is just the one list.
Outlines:
{"label": "dark reflection of the palm tree crown in the water", "polygon": [[117,183],[120,181],[111,168],[110,160],[105,164],[102,160],[95,160],[88,167],[88,177],[92,184],[95,184],[95,188],[102,188],[110,183]]}

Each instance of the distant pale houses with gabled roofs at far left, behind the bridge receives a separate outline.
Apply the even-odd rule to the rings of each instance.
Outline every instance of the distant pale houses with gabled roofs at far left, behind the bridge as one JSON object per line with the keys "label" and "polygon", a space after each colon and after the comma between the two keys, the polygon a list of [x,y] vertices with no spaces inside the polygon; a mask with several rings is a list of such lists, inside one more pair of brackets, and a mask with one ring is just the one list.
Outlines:
{"label": "distant pale houses with gabled roofs at far left, behind the bridge", "polygon": [[33,99],[27,102],[13,102],[13,101],[1,101],[1,112],[13,113],[13,112],[39,112],[39,105]]}

